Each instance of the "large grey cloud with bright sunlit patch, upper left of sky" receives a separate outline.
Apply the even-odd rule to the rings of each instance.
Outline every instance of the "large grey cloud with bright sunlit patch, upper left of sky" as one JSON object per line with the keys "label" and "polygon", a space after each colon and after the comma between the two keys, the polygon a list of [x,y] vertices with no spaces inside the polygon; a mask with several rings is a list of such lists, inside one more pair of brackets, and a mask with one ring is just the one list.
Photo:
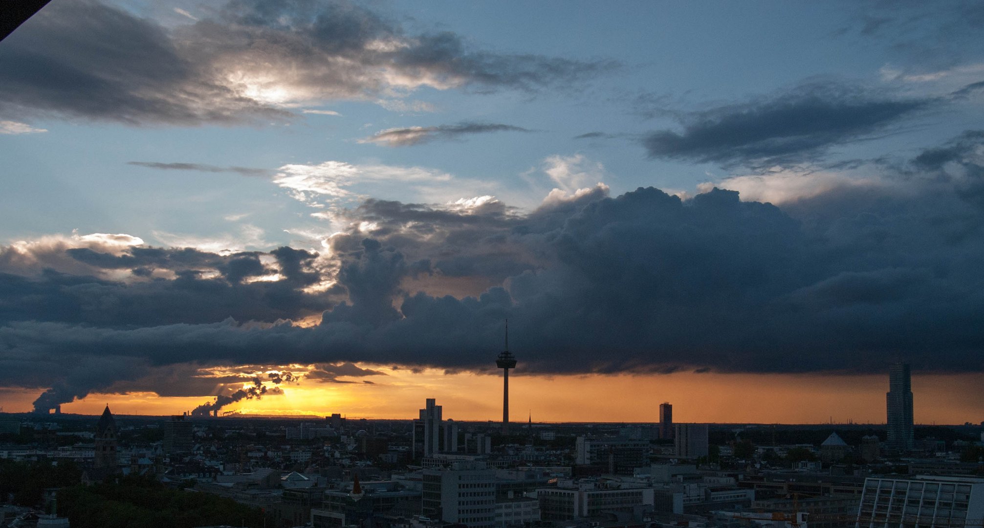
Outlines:
{"label": "large grey cloud with bright sunlit patch, upper left of sky", "polygon": [[[175,29],[94,0],[54,2],[0,47],[0,110],[127,124],[264,123],[289,102],[419,87],[535,90],[616,67],[406,34],[347,2],[232,0]],[[267,96],[276,94],[276,96]]]}

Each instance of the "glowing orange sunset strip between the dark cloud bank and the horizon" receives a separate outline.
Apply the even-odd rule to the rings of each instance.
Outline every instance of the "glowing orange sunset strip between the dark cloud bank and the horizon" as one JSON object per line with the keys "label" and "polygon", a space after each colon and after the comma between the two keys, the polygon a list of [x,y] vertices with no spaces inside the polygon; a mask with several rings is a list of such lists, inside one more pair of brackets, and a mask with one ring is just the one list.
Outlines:
{"label": "glowing orange sunset strip between the dark cloud bank and the horizon", "polygon": [[[222,409],[241,414],[411,419],[434,397],[456,420],[500,420],[502,378],[444,374],[428,369],[360,365],[385,373],[372,384],[301,380],[282,385],[283,394],[233,403]],[[678,373],[646,376],[512,375],[512,419],[536,422],[658,422],[657,406],[673,402],[675,418],[708,423],[885,423],[884,376],[790,376]],[[913,377],[915,421],[962,424],[984,419],[982,385],[975,375]],[[31,409],[36,391],[9,393],[5,409]],[[153,392],[93,393],[62,406],[62,412],[98,414],[109,404],[119,414],[180,414],[209,401],[202,397],[160,397]],[[930,404],[932,402],[932,405]]]}

